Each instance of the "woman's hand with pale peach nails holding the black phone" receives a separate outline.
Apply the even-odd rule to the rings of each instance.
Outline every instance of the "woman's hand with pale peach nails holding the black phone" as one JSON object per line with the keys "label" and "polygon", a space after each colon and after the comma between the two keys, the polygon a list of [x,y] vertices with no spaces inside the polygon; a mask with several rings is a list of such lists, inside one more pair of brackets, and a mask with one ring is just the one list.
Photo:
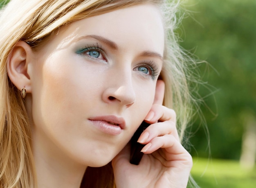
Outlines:
{"label": "woman's hand with pale peach nails holding the black phone", "polygon": [[162,106],[164,82],[157,81],[155,101],[146,116],[152,124],[138,142],[146,144],[139,165],[130,164],[129,144],[112,160],[117,188],[186,188],[192,157],[179,141],[176,114]]}

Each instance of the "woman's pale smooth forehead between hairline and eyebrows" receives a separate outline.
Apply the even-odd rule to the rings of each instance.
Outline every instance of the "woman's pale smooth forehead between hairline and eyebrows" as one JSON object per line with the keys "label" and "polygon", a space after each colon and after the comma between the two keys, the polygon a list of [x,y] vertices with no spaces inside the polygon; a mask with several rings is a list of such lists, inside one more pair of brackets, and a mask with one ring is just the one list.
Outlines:
{"label": "woman's pale smooth forehead between hairline and eyebrows", "polygon": [[164,50],[162,16],[153,4],[135,5],[71,22],[62,26],[54,38],[61,48],[67,42],[86,35],[108,38],[119,47],[136,44],[160,54]]}

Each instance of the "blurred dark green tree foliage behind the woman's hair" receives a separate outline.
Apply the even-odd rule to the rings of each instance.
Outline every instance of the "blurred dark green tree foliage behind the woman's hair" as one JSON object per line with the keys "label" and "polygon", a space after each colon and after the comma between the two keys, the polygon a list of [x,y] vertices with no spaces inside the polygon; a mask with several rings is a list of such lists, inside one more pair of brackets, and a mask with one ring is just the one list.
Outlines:
{"label": "blurred dark green tree foliage behind the woman's hair", "polygon": [[[212,96],[204,98],[209,108],[202,107],[212,157],[239,159],[246,123],[241,114],[256,111],[256,1],[189,0],[184,6],[191,16],[182,21],[180,44],[213,67],[200,67],[203,80],[216,87]],[[207,87],[199,92],[202,97],[209,95]],[[201,127],[191,138],[198,152],[192,155],[208,157],[204,132]]]}

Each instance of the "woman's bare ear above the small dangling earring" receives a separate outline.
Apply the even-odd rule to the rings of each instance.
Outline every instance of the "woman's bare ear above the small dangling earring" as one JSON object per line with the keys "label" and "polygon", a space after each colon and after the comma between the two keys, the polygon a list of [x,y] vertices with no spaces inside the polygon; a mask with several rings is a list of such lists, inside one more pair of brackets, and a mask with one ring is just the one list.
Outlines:
{"label": "woman's bare ear above the small dangling earring", "polygon": [[21,90],[26,87],[27,92],[31,92],[31,81],[27,72],[31,63],[33,51],[24,41],[19,41],[11,51],[7,61],[7,73],[11,82]]}

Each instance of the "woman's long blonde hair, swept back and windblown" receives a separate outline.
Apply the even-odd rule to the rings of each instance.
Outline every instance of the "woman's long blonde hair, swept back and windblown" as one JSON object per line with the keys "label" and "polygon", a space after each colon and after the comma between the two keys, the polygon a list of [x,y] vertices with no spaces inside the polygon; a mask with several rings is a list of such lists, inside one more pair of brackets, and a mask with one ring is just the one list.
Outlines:
{"label": "woman's long blonde hair, swept back and windblown", "polygon": [[[153,3],[162,9],[166,24],[164,66],[161,72],[161,79],[166,83],[164,105],[175,109],[180,138],[184,138],[186,126],[191,119],[193,98],[188,85],[192,78],[188,72],[190,65],[187,64],[175,35],[178,0],[168,0],[168,3],[163,0],[11,0],[0,12],[1,188],[36,187],[25,101],[7,75],[8,55],[15,44],[22,40],[36,50],[60,26],[143,3]],[[95,178],[88,178],[89,176],[98,177],[99,180],[95,181]],[[81,187],[115,186],[111,164],[88,168],[85,179]],[[90,179],[94,181],[89,182]]]}

